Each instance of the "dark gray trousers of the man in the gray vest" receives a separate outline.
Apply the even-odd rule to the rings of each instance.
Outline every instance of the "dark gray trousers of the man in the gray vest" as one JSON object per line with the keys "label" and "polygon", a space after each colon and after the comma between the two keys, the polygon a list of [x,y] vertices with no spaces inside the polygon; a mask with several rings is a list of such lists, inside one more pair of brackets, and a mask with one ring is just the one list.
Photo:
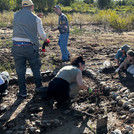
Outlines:
{"label": "dark gray trousers of the man in the gray vest", "polygon": [[36,87],[42,86],[40,74],[41,61],[39,58],[39,48],[36,45],[15,46],[12,47],[12,55],[15,61],[16,73],[18,75],[19,94],[25,95],[26,84],[26,61],[28,61],[34,76]]}

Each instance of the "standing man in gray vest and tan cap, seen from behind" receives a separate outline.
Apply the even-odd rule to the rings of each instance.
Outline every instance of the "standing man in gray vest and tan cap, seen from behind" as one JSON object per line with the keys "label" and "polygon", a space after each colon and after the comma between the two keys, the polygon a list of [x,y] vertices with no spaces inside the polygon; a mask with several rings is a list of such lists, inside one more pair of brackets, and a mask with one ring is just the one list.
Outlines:
{"label": "standing man in gray vest and tan cap, seen from behind", "polygon": [[18,76],[19,93],[17,95],[23,98],[27,96],[25,84],[26,61],[32,69],[36,88],[42,86],[38,35],[44,41],[46,41],[47,36],[41,19],[33,14],[33,11],[32,0],[22,0],[22,9],[14,14],[13,20],[12,55]]}

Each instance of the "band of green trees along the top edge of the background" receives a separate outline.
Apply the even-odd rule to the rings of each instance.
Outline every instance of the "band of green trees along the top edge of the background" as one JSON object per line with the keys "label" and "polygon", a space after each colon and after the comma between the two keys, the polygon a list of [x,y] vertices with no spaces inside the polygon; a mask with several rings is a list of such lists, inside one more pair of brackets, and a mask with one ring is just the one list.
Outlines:
{"label": "band of green trees along the top edge of the background", "polygon": [[[0,0],[0,11],[3,10],[18,10],[21,8],[22,0]],[[134,6],[134,0],[33,0],[35,10],[52,11],[55,4],[63,6],[71,6],[73,3],[83,2],[92,4],[99,9],[107,9],[113,6]]]}

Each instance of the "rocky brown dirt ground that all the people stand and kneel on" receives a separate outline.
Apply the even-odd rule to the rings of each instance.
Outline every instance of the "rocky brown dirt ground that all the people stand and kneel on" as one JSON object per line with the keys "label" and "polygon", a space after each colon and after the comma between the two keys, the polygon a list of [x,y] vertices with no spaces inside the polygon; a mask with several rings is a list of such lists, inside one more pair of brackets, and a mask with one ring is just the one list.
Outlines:
{"label": "rocky brown dirt ground that all the people stand and kneel on", "polygon": [[[61,62],[58,32],[52,32],[45,27],[51,41],[46,52],[41,52],[43,85],[57,70],[64,66]],[[101,92],[88,94],[81,90],[79,96],[71,101],[71,106],[57,108],[50,102],[40,98],[34,91],[32,76],[27,75],[27,91],[30,96],[18,99],[15,65],[11,54],[12,28],[0,30],[0,70],[7,69],[11,75],[9,94],[1,98],[0,133],[2,134],[103,134],[118,129],[122,133],[133,133],[134,129],[134,78],[126,73],[114,73],[117,50],[124,44],[129,44],[134,50],[134,32],[115,32],[104,25],[71,26],[68,49],[71,57],[82,55],[86,60],[83,72],[84,83]],[[10,34],[9,34],[10,33]],[[42,42],[41,42],[42,43]],[[105,67],[103,63],[110,61]],[[67,62],[66,64],[70,64]],[[27,66],[29,67],[29,66]],[[118,97],[117,97],[118,95]],[[2,109],[3,108],[3,109]],[[103,118],[97,130],[97,119]],[[105,130],[107,128],[107,130]]]}

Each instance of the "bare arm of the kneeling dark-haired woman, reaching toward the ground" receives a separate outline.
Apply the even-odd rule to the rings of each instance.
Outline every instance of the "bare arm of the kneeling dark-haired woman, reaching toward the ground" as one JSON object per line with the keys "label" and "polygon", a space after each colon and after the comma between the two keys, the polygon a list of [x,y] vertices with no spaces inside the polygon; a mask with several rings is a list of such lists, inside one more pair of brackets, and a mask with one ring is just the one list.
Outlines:
{"label": "bare arm of the kneeling dark-haired woman, reaching toward the ground", "polygon": [[79,73],[77,74],[77,76],[76,76],[76,81],[77,81],[78,86],[79,86],[81,89],[85,89],[85,90],[88,89],[88,87],[87,87],[87,86],[83,83],[83,81],[82,81],[82,73],[81,73],[81,72],[79,72]]}

